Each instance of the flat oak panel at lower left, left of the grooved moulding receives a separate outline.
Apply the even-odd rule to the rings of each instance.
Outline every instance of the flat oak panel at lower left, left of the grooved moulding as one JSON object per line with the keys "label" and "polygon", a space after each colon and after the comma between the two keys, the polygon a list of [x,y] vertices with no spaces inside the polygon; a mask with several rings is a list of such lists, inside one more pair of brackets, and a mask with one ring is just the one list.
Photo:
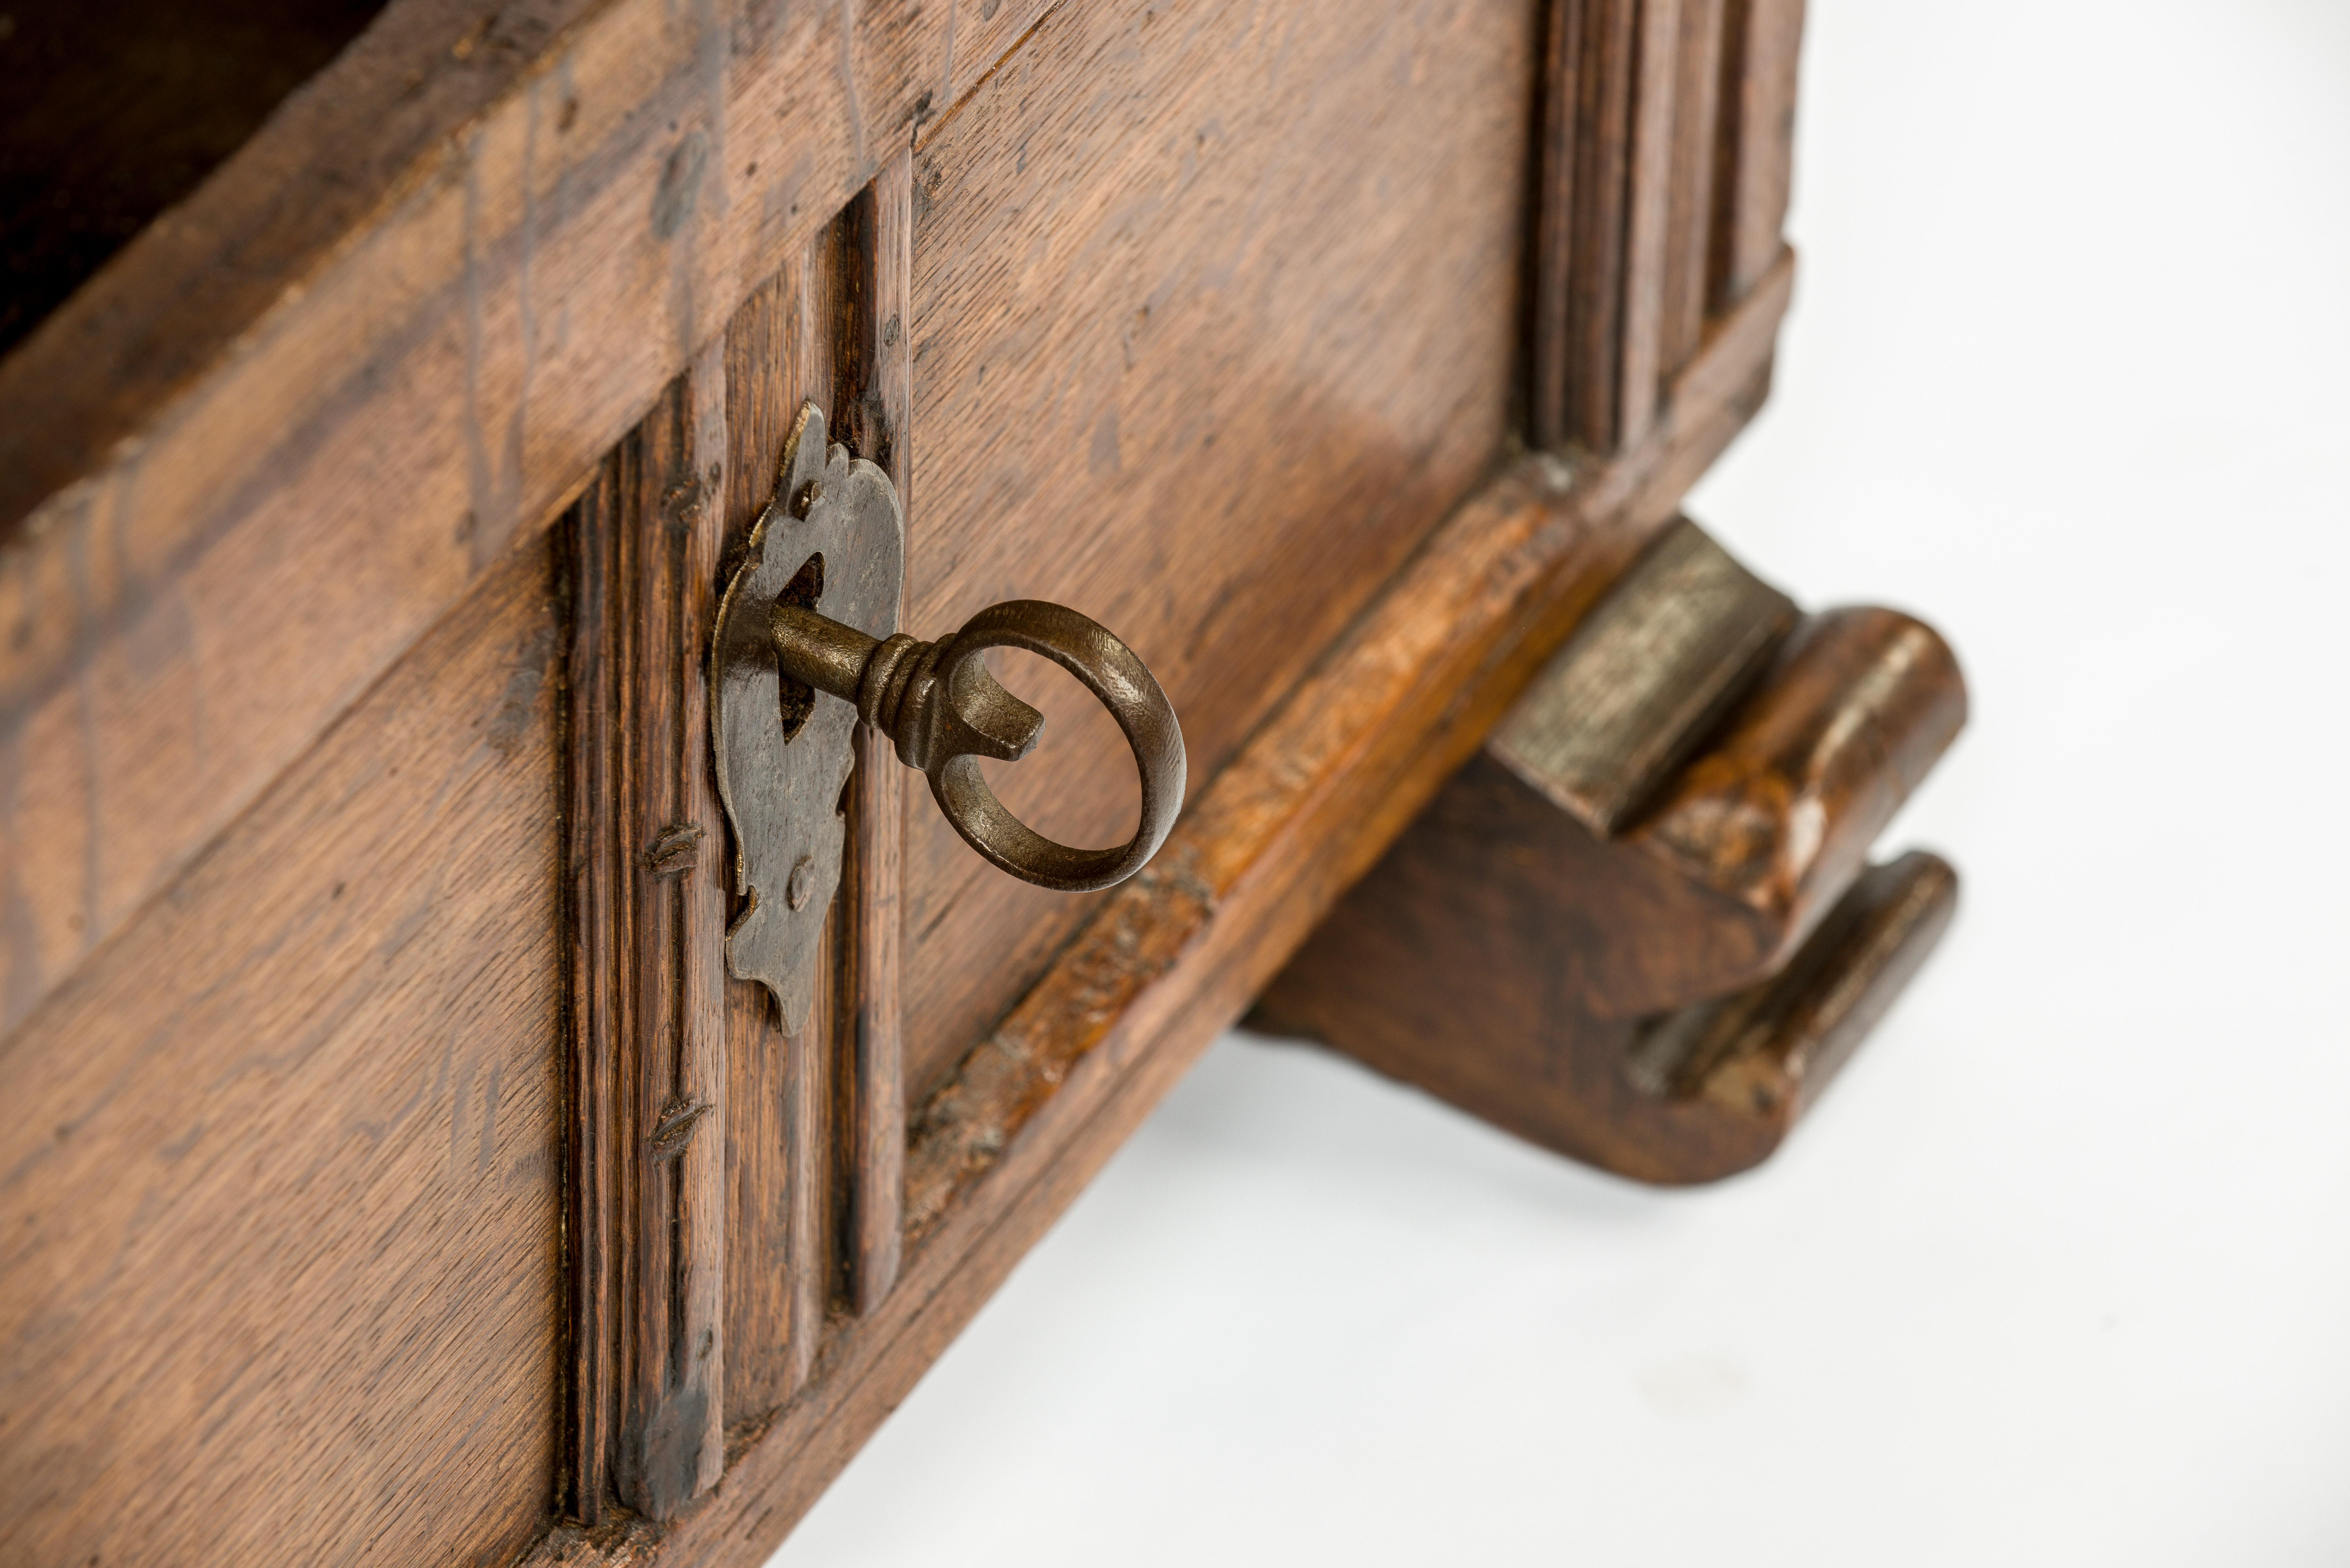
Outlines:
{"label": "flat oak panel at lower left, left of the grooved moulding", "polygon": [[508,557],[0,1044],[0,1559],[470,1563],[543,1523],[552,592]]}

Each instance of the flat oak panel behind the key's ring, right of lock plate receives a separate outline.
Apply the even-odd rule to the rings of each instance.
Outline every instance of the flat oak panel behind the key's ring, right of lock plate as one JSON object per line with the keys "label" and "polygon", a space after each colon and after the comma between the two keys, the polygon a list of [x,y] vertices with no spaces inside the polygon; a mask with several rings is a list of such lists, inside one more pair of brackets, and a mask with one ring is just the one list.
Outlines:
{"label": "flat oak panel behind the key's ring, right of lock plate", "polygon": [[[909,625],[1065,602],[1156,672],[1194,778],[1229,762],[1499,449],[1535,47],[1499,0],[1053,12],[916,153]],[[1006,682],[1048,715],[1006,804],[1126,837],[1109,719]],[[1104,903],[928,802],[905,896],[916,1088]]]}

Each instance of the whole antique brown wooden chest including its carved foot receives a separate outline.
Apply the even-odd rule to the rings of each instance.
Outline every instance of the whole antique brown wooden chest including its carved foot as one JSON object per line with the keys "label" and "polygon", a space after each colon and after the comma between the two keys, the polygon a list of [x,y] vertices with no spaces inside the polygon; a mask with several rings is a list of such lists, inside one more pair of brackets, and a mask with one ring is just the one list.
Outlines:
{"label": "whole antique brown wooden chest including its carved foot", "polygon": [[[1657,1180],[1760,1159],[1948,910],[1864,879],[1948,651],[1673,527],[1770,386],[1800,0],[66,9],[0,38],[9,1563],[761,1561],[1431,802],[1365,889],[1532,832],[1584,912],[1405,896],[1464,943],[1410,994],[1565,961],[1488,917],[1645,980],[1415,1063],[1349,905],[1264,1018]],[[874,635],[1081,611],[1189,783],[1053,891],[862,726],[837,896],[757,889],[787,1018],[712,623],[804,407],[902,520]],[[1046,745],[961,766],[1133,832],[1112,715],[996,670]],[[1537,677],[1645,696],[1495,762]]]}

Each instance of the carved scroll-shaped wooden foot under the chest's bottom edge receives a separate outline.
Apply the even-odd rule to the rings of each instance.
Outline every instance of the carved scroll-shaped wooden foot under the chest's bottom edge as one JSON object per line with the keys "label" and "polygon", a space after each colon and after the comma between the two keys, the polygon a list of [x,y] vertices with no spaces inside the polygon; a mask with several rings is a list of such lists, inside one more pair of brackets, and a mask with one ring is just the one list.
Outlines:
{"label": "carved scroll-shaped wooden foot under the chest's bottom edge", "polygon": [[1965,715],[1932,628],[1800,616],[1680,520],[1250,1023],[1607,1171],[1746,1171],[1950,919],[1943,860],[1866,856]]}

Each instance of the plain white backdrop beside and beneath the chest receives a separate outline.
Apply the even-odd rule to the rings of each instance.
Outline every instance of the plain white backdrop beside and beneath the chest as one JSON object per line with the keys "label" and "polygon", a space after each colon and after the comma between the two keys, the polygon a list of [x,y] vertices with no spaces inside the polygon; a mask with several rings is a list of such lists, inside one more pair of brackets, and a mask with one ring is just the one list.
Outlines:
{"label": "plain white backdrop beside and beneath the chest", "polygon": [[780,1568],[2350,1563],[2350,5],[1812,0],[1791,230],[1690,510],[1967,665],[1899,1011],[1697,1192],[1231,1037]]}

